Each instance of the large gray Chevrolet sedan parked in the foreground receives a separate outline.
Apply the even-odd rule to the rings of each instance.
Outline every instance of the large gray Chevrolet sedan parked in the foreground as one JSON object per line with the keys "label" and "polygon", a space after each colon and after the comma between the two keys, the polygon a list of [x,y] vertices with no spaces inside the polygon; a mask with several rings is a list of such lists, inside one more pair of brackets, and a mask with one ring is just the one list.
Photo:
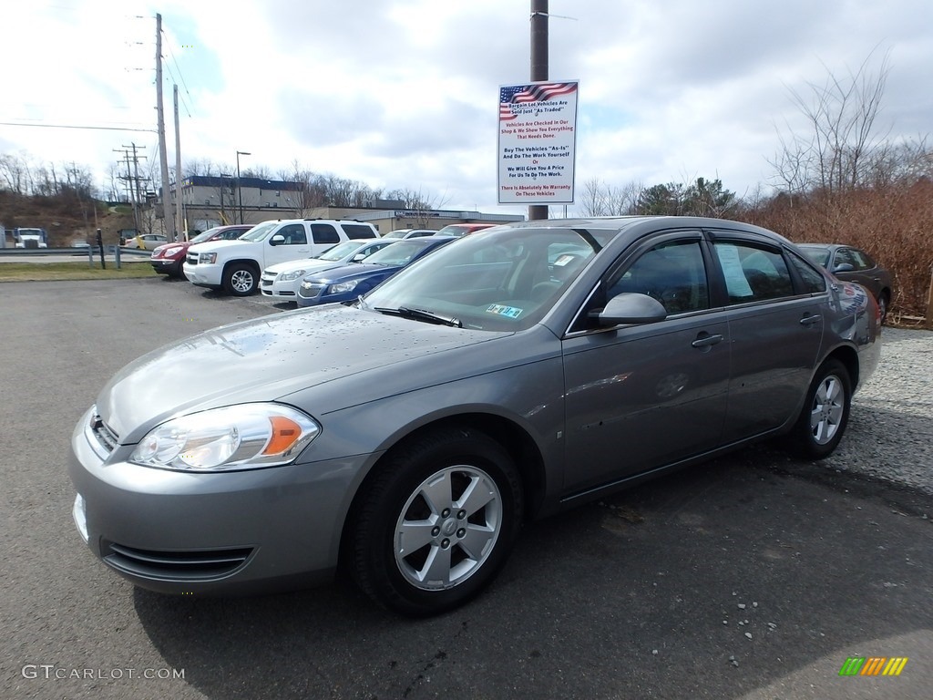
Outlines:
{"label": "large gray Chevrolet sedan parked in the foreground", "polygon": [[156,591],[343,567],[390,609],[437,613],[493,579],[528,519],[753,440],[829,455],[878,320],[865,289],[737,222],[479,231],[352,306],[209,330],[118,372],[72,437],[74,517]]}

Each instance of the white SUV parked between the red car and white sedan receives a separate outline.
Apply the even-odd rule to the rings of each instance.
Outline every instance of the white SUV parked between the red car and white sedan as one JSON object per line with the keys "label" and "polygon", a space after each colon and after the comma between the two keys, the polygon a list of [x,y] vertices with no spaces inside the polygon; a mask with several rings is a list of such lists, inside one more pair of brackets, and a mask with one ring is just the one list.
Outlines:
{"label": "white SUV parked between the red car and white sedan", "polygon": [[262,270],[278,262],[309,258],[331,245],[377,238],[372,224],[321,218],[266,221],[233,241],[192,245],[185,276],[199,287],[224,289],[245,297],[259,287]]}

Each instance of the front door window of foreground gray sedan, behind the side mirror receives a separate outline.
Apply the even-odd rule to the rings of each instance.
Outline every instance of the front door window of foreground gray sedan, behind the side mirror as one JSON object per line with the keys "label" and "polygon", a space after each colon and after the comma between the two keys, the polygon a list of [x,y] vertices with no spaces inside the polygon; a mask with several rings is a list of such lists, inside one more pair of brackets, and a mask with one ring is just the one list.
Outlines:
{"label": "front door window of foreground gray sedan, behind the side mirror", "polygon": [[606,300],[630,292],[661,301],[668,315],[709,308],[709,286],[699,241],[674,241],[643,253],[610,278]]}

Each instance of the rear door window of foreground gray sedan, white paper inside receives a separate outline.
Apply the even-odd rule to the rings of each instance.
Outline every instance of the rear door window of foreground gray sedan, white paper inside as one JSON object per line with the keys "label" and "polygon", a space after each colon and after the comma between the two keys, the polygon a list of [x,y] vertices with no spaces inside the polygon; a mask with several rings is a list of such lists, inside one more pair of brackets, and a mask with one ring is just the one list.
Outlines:
{"label": "rear door window of foreground gray sedan, white paper inside", "polygon": [[794,284],[779,252],[733,241],[717,241],[714,249],[731,304],[793,295]]}

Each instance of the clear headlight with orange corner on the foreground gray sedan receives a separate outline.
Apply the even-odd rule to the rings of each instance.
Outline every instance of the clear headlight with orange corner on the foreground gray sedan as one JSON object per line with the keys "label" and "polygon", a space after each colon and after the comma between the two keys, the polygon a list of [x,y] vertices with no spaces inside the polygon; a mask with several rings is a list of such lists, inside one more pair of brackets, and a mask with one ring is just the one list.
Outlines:
{"label": "clear headlight with orange corner on the foreground gray sedan", "polygon": [[184,471],[260,469],[288,464],[321,427],[308,415],[276,403],[191,413],[151,430],[130,461]]}

